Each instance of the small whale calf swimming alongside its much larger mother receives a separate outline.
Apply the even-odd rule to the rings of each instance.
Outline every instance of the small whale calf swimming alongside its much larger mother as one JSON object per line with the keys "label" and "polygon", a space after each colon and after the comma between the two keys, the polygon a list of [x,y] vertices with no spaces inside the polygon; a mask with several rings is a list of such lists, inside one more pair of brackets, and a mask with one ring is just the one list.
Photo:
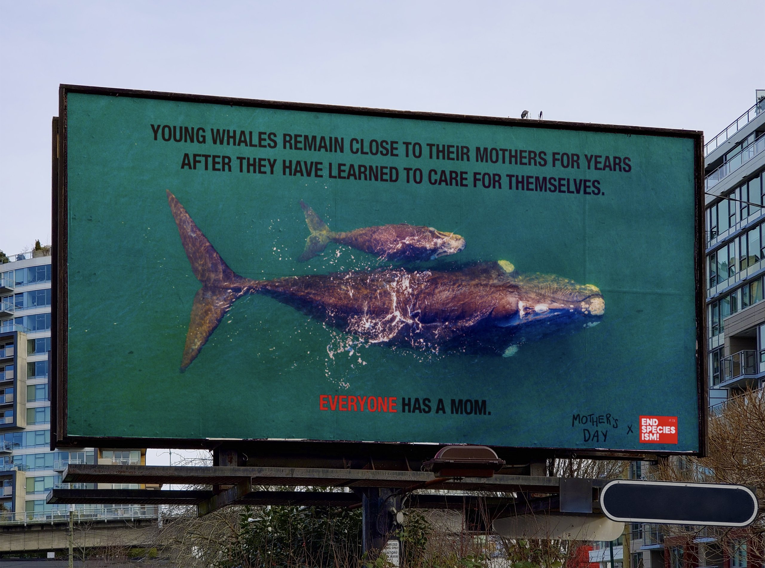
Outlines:
{"label": "small whale calf swimming alongside its much larger mother", "polygon": [[442,232],[432,227],[399,223],[364,227],[349,232],[333,232],[327,223],[302,201],[305,222],[311,235],[305,242],[305,250],[298,258],[307,261],[320,254],[330,242],[348,245],[379,258],[402,261],[426,261],[441,256],[454,255],[465,248],[465,239],[453,232]]}

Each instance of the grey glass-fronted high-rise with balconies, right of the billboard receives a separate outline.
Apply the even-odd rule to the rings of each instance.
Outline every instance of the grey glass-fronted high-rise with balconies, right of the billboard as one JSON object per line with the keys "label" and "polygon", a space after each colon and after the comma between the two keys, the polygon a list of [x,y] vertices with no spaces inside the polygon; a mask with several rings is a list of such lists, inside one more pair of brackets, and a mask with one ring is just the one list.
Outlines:
{"label": "grey glass-fronted high-rise with balconies, right of the billboard", "polygon": [[765,377],[765,90],[705,144],[709,404]]}

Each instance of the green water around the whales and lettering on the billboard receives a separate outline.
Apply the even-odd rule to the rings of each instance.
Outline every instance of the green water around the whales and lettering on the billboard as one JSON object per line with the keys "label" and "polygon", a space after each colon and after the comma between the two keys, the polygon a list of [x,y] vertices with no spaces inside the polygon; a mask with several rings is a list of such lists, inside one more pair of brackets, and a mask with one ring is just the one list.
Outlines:
{"label": "green water around the whales and lettering on the billboard", "polygon": [[[299,438],[499,446],[697,450],[693,144],[688,138],[470,125],[130,97],[68,96],[69,407],[74,436]],[[202,126],[207,144],[155,141],[151,124]],[[210,128],[273,131],[278,148],[218,146]],[[282,133],[345,138],[344,154],[282,150]],[[354,156],[350,138],[470,147],[470,162]],[[581,154],[581,170],[476,164],[474,147]],[[399,145],[403,156],[403,146]],[[277,159],[276,175],[181,170],[184,153]],[[629,174],[584,153],[629,156]],[[323,161],[324,178],[281,161]],[[327,178],[327,162],[467,170],[469,187]],[[503,189],[472,187],[472,172]],[[507,190],[505,174],[588,177],[602,196]],[[463,235],[459,255],[601,288],[603,322],[520,346],[513,357],[364,346],[269,297],[237,300],[181,374],[190,270],[171,190],[238,274],[269,279],[389,265],[330,244],[296,259],[305,200],[334,230],[408,222]],[[353,350],[353,352],[350,351]],[[319,411],[320,394],[443,398],[447,414]],[[451,398],[486,399],[485,416]],[[400,408],[400,406],[399,406]],[[611,414],[584,442],[572,414]],[[638,443],[640,414],[679,417],[679,444]],[[633,433],[627,434],[631,424]],[[589,427],[593,430],[592,427]],[[601,430],[605,427],[601,426]],[[646,447],[647,446],[647,447]]]}

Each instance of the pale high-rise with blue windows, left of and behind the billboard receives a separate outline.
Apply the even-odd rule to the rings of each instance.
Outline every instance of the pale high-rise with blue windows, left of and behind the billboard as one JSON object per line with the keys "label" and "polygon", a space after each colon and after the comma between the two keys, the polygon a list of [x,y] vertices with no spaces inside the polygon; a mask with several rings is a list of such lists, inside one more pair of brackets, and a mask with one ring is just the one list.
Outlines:
{"label": "pale high-rise with blue windows, left of and behind the billboard", "polygon": [[[66,521],[68,505],[49,505],[70,463],[145,464],[145,450],[50,451],[50,247],[0,255],[0,524]],[[102,485],[99,488],[111,488]],[[119,485],[120,488],[123,485]],[[139,485],[124,488],[139,488]],[[73,484],[73,488],[96,488]],[[115,486],[115,488],[118,488]],[[78,517],[154,517],[155,507],[78,505]]]}

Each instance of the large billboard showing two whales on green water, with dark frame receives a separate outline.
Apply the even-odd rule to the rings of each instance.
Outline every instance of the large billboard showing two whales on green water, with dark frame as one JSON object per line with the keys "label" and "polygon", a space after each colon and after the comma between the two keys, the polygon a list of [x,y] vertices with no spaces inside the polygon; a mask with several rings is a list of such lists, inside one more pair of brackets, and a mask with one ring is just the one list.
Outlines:
{"label": "large billboard showing two whales on green water, with dark frame", "polygon": [[702,450],[700,132],[60,96],[59,443]]}

